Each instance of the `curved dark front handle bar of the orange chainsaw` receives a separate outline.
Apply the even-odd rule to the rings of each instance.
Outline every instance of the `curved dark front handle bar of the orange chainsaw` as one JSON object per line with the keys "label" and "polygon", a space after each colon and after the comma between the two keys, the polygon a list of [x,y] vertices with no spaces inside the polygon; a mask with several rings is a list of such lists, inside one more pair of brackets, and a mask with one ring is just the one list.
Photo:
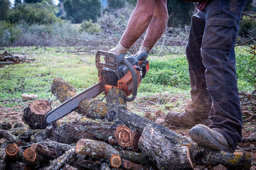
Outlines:
{"label": "curved dark front handle bar of the orange chainsaw", "polygon": [[132,82],[133,82],[133,86],[132,86],[132,97],[127,98],[127,101],[133,101],[136,96],[137,96],[137,90],[138,90],[138,79],[137,79],[137,74],[134,70],[134,67],[132,67],[132,64],[130,64],[126,59],[124,59],[122,61],[124,63],[124,65],[126,65],[129,69],[129,71],[132,74]]}

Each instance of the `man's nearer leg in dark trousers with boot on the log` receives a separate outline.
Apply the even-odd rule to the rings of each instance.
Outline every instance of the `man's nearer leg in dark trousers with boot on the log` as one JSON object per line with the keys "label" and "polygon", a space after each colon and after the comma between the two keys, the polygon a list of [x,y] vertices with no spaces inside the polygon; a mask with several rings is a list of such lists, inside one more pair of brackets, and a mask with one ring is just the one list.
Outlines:
{"label": "man's nearer leg in dark trousers with boot on the log", "polygon": [[[246,2],[247,0],[212,0],[205,8],[206,28],[201,54],[212,101],[212,124],[209,128],[197,125],[190,132],[192,140],[198,144],[230,152],[234,152],[242,137],[234,45]],[[205,140],[202,140],[203,137]]]}

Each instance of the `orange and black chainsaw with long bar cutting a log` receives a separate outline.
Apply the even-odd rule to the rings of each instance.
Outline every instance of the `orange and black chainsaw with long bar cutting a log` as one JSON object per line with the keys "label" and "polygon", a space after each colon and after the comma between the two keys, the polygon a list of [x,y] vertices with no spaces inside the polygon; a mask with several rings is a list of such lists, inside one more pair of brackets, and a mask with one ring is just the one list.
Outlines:
{"label": "orange and black chainsaw with long bar cutting a log", "polygon": [[[133,101],[137,96],[137,89],[146,73],[149,72],[149,61],[138,61],[135,57],[115,55],[111,52],[98,51],[95,56],[99,82],[57,108],[48,112],[45,117],[46,124],[54,123],[78,108],[80,101],[85,98],[95,98],[103,91],[107,95],[110,89],[122,89],[127,95],[127,101]],[[132,95],[131,97],[128,97]]]}

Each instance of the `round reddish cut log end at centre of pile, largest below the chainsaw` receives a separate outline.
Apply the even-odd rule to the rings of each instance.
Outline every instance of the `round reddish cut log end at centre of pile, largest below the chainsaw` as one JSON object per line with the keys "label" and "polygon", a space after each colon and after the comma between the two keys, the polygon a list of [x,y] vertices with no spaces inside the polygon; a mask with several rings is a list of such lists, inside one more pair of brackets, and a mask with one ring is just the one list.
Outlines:
{"label": "round reddish cut log end at centre of pile, largest below the chainsaw", "polygon": [[114,137],[120,147],[131,147],[134,141],[132,130],[124,125],[117,127],[117,130],[114,132]]}

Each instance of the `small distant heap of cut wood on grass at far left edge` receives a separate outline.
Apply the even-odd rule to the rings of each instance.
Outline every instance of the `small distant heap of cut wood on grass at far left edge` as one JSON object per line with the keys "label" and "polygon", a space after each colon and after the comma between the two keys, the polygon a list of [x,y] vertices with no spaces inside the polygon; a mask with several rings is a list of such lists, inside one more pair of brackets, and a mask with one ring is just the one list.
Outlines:
{"label": "small distant heap of cut wood on grass at far left edge", "polygon": [[4,50],[3,53],[0,54],[0,65],[5,64],[18,64],[22,62],[33,61],[34,59],[27,59],[24,55],[12,55],[11,53]]}

